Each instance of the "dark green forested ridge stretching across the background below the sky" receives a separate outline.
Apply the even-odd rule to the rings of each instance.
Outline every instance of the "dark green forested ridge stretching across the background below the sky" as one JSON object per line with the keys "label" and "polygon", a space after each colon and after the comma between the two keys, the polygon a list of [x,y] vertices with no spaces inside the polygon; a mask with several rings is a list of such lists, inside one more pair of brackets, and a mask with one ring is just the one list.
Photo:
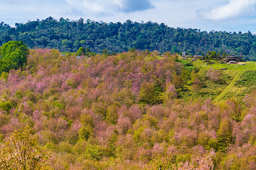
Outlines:
{"label": "dark green forested ridge stretching across the background below the sky", "polygon": [[164,23],[94,22],[80,18],[69,20],[52,17],[16,23],[15,28],[0,24],[0,45],[10,40],[22,40],[29,48],[55,48],[61,52],[76,52],[80,47],[100,53],[123,52],[131,48],[158,50],[192,55],[216,51],[243,55],[246,60],[256,60],[256,36],[250,31],[200,31],[200,29],[171,28]]}

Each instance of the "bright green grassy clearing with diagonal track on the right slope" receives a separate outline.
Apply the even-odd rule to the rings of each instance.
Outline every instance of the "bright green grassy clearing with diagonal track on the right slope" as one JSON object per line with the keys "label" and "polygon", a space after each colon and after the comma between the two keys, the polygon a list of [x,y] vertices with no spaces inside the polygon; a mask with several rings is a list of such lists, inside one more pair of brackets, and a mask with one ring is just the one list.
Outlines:
{"label": "bright green grassy clearing with diagonal track on the right slope", "polygon": [[[189,61],[188,59],[187,61]],[[184,97],[198,97],[201,95],[201,98],[211,98],[214,103],[219,103],[230,97],[235,97],[237,100],[242,100],[246,93],[250,93],[253,88],[255,88],[255,84],[250,84],[250,86],[237,86],[236,83],[241,79],[241,75],[245,71],[253,71],[256,70],[256,62],[241,62],[245,63],[245,65],[237,65],[237,64],[230,64],[228,63],[220,63],[219,61],[210,61],[215,62],[213,64],[208,64],[205,66],[205,62],[201,60],[197,60],[192,62],[194,66],[200,68],[200,72],[207,71],[208,69],[224,69],[222,70],[222,74],[227,75],[225,78],[225,85],[221,84],[210,84],[210,82],[205,82],[207,84],[206,87],[202,88],[202,90],[197,92],[187,92],[188,94],[184,95]],[[256,78],[255,78],[256,79]],[[256,81],[254,79],[254,82]],[[214,86],[213,86],[214,85]],[[188,87],[189,89],[189,87]],[[184,93],[185,94],[185,93]]]}

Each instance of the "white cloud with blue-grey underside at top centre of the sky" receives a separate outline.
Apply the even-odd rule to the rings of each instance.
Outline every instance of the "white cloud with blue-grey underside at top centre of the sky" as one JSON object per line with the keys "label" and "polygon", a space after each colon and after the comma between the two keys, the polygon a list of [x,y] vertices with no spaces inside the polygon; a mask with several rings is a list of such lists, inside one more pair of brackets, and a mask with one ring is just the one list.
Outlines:
{"label": "white cloud with blue-grey underside at top centre of the sky", "polygon": [[154,8],[150,0],[66,0],[66,2],[73,7],[72,10],[95,15],[112,15],[117,11],[130,13]]}

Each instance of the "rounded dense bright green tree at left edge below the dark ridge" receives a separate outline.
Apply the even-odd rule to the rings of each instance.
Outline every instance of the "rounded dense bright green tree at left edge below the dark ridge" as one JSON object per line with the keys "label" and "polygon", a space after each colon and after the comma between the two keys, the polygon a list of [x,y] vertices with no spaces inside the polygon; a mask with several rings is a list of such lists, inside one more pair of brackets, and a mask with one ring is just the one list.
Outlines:
{"label": "rounded dense bright green tree at left edge below the dark ridge", "polygon": [[22,41],[9,41],[0,47],[0,73],[19,69],[27,62],[27,45]]}

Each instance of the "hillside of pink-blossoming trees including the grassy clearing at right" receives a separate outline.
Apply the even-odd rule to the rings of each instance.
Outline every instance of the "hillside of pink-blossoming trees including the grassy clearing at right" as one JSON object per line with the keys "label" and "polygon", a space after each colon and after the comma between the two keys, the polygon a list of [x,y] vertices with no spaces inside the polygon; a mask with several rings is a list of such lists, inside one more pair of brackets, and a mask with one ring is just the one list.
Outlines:
{"label": "hillside of pink-blossoming trees including the grassy clearing at right", "polygon": [[30,49],[1,74],[0,141],[30,126],[46,169],[255,169],[255,62],[191,59]]}

